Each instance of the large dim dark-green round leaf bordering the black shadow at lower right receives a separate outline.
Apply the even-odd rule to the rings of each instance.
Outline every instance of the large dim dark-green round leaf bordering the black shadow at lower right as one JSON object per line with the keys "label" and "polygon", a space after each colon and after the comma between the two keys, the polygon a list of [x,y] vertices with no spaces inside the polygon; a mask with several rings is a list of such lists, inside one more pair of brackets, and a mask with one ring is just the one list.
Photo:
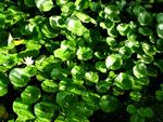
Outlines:
{"label": "large dim dark-green round leaf bordering the black shadow at lower right", "polygon": [[118,100],[114,96],[103,95],[99,105],[104,112],[113,112],[118,106]]}

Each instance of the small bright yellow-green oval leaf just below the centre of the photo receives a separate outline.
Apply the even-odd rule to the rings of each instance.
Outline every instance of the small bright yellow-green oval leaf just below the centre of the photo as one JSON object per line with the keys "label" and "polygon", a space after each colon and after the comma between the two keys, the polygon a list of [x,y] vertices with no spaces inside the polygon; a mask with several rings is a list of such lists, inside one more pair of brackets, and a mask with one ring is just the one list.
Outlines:
{"label": "small bright yellow-green oval leaf just below the centre of the photo", "polygon": [[99,76],[97,72],[89,71],[89,72],[85,73],[85,79],[92,82],[92,83],[98,83]]}

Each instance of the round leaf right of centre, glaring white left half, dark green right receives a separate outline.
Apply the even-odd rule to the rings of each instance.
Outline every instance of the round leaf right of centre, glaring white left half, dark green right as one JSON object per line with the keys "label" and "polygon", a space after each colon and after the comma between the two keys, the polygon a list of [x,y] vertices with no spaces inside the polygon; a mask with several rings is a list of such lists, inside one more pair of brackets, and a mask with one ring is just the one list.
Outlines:
{"label": "round leaf right of centre, glaring white left half, dark green right", "polygon": [[118,54],[111,54],[105,59],[105,66],[108,69],[111,69],[111,70],[120,69],[122,64],[123,64],[123,60]]}

